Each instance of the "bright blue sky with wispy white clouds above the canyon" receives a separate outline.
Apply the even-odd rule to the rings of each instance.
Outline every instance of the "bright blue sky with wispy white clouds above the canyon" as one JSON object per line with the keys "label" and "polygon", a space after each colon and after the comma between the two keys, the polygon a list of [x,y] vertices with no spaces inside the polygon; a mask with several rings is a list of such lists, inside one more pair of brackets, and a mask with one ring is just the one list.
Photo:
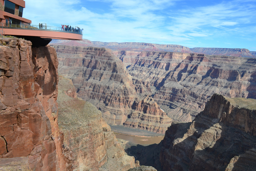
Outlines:
{"label": "bright blue sky with wispy white clouds above the canyon", "polygon": [[83,38],[256,51],[256,0],[25,0],[32,25],[84,29]]}

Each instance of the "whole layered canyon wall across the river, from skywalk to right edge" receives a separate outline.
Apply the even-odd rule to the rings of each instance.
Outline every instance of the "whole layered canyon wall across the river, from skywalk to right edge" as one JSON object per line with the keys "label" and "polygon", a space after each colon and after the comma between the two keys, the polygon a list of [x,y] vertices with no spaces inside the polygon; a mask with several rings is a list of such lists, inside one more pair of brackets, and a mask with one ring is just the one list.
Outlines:
{"label": "whole layered canyon wall across the river, from skywalk to right edge", "polygon": [[[192,121],[214,93],[227,97],[256,97],[254,58],[123,51],[117,54],[120,62],[106,49],[104,51],[111,57],[106,58],[100,48],[55,48],[61,61],[59,72],[71,78],[78,96],[97,105],[103,118],[112,125],[123,124],[163,133],[164,125],[172,122],[166,114],[177,121]],[[118,69],[106,70],[106,59],[109,63],[115,62],[112,66]],[[155,118],[162,115],[162,118],[156,120],[154,116],[145,115],[150,113],[144,109],[144,104],[140,106],[141,100],[152,101],[151,114],[155,113]],[[162,128],[158,128],[159,125]]]}

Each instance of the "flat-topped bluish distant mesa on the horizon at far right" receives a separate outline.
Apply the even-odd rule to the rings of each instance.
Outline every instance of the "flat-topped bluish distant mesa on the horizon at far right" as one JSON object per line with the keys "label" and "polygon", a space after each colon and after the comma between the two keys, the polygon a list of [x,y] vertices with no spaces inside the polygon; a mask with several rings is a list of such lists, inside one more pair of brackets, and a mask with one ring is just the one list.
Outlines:
{"label": "flat-topped bluish distant mesa on the horizon at far right", "polygon": [[255,57],[248,49],[239,48],[191,48],[193,52],[206,54],[206,55],[225,55],[237,57]]}

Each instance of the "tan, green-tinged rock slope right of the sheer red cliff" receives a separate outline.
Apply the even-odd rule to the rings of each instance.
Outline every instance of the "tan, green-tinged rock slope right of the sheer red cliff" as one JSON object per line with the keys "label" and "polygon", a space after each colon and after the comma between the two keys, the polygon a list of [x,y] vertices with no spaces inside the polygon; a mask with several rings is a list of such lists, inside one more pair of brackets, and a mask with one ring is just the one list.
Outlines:
{"label": "tan, green-tinged rock slope right of the sheer red cliff", "polygon": [[[68,92],[68,93],[67,93]],[[101,112],[76,95],[72,81],[59,78],[59,128],[63,132],[63,154],[68,170],[127,170],[135,167]]]}

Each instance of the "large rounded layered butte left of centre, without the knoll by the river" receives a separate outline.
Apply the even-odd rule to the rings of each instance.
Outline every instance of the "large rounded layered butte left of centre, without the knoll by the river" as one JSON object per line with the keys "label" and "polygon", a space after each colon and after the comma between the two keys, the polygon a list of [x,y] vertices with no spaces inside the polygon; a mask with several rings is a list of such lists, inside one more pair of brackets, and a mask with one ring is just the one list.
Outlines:
{"label": "large rounded layered butte left of centre, without the knoll by the river", "polygon": [[104,48],[55,48],[61,53],[59,73],[72,79],[77,96],[96,105],[109,124],[122,125],[136,92],[121,60]]}

